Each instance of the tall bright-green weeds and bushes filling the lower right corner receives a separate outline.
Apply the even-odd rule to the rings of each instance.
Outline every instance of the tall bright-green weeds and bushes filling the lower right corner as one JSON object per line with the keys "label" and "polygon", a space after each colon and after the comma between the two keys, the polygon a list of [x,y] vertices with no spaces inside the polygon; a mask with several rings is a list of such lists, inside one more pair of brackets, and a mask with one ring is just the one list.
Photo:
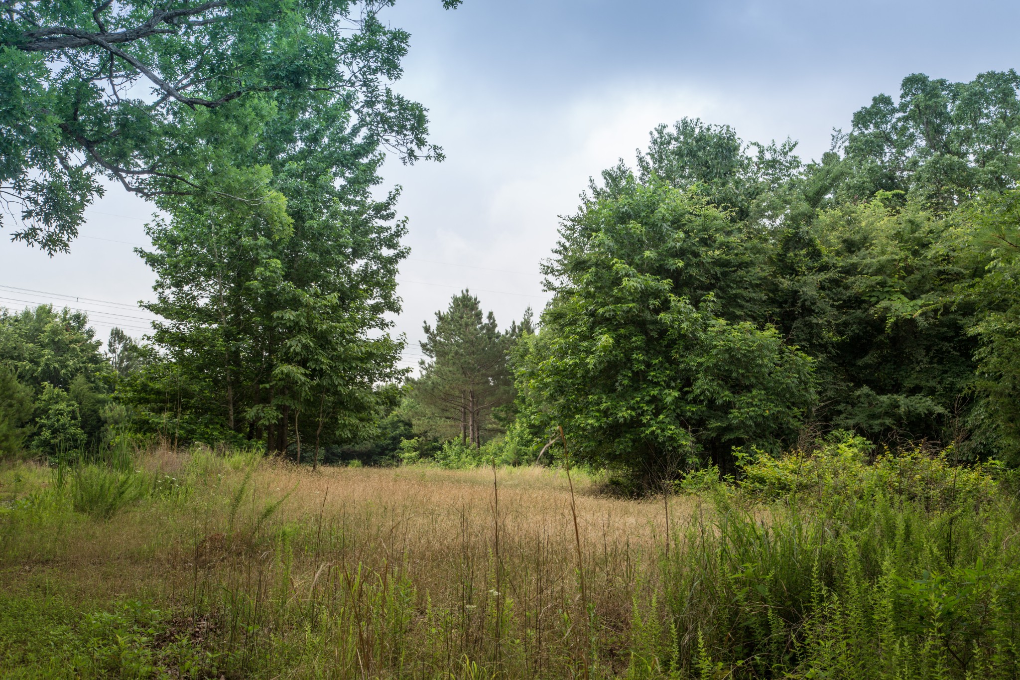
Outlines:
{"label": "tall bright-green weeds and bushes filling the lower right corner", "polygon": [[1020,543],[987,471],[844,441],[745,473],[664,562],[679,677],[1017,677]]}

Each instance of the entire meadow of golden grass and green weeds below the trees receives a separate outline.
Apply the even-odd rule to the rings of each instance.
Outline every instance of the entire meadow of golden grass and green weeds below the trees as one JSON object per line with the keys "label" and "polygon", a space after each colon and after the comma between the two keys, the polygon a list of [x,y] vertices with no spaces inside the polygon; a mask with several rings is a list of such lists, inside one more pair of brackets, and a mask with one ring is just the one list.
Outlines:
{"label": "entire meadow of golden grass and green weeds below the trees", "polygon": [[[203,450],[8,466],[0,672],[1018,677],[1012,494],[895,465],[877,485],[822,466],[784,495],[642,501],[503,468],[498,504],[484,468],[313,473]],[[759,491],[786,479],[758,473]]]}

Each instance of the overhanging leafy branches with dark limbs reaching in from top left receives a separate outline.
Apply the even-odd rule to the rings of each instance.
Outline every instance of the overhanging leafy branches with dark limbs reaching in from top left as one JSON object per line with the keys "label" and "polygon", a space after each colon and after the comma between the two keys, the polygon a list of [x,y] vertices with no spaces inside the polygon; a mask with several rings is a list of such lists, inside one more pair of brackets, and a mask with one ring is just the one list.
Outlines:
{"label": "overhanging leafy branches with dark limbs reaching in from top left", "polygon": [[442,156],[425,109],[390,86],[409,39],[379,18],[392,4],[2,3],[0,198],[19,217],[13,239],[67,250],[104,177],[146,198],[258,201],[217,177],[282,121],[341,116],[406,161]]}

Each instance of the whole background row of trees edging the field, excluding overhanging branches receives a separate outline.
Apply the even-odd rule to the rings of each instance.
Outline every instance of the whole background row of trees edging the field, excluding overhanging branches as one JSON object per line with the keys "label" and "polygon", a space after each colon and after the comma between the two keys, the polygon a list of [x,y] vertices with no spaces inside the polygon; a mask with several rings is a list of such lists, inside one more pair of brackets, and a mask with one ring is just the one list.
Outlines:
{"label": "whole background row of trees edging the field, excluding overhanging branches", "polygon": [[[562,455],[562,427],[576,460],[645,483],[835,431],[1017,465],[1018,91],[1013,70],[910,75],[807,163],[789,141],[661,125],[562,222],[539,322],[500,330],[464,292],[425,325],[414,377],[386,333],[405,227],[395,196],[369,196],[377,157],[330,184],[298,152],[266,155],[286,201],[164,201],[142,255],[167,321],[132,367],[94,349],[53,381],[6,341],[0,362],[36,402],[87,382],[101,397],[83,414],[108,402],[134,431],[303,460],[528,461]],[[3,408],[50,446],[44,410]]]}

